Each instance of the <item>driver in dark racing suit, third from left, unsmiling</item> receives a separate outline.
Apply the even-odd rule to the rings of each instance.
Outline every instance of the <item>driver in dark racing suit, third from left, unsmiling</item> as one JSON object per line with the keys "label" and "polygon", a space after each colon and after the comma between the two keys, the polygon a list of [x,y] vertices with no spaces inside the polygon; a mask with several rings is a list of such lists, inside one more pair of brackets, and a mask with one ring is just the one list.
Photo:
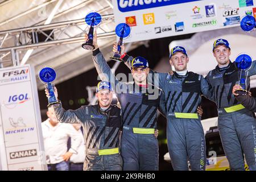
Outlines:
{"label": "driver in dark racing suit, third from left, unsmiling", "polygon": [[[113,51],[116,50],[116,45]],[[122,56],[126,65],[133,59],[124,53]],[[163,90],[167,109],[167,142],[174,170],[188,170],[188,160],[192,170],[205,170],[206,148],[201,117],[197,107],[201,103],[201,94],[212,99],[212,88],[201,75],[187,71],[187,52],[183,47],[171,49],[170,64],[175,72],[156,73],[159,79],[154,79]],[[152,79],[151,79],[152,80]]]}

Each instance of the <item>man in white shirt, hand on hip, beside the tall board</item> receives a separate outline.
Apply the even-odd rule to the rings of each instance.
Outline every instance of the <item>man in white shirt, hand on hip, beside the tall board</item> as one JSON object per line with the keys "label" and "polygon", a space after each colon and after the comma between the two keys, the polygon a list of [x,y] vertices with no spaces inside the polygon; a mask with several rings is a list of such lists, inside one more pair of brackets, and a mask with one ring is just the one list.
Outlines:
{"label": "man in white shirt, hand on hip, beside the tall board", "polygon": [[[49,107],[46,114],[48,119],[42,122],[42,131],[48,170],[68,171],[68,160],[72,154],[77,154],[82,143],[80,133],[72,125],[59,123],[53,107]],[[68,150],[69,137],[72,138],[73,142]]]}

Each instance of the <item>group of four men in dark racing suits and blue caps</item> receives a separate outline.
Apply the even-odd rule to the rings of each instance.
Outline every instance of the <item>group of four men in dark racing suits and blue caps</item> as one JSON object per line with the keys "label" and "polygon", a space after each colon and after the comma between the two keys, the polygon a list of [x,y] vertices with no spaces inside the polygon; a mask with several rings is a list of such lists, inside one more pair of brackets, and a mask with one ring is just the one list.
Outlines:
{"label": "group of four men in dark racing suits and blue caps", "polygon": [[[154,135],[157,110],[167,118],[172,167],[188,170],[189,160],[192,170],[205,170],[205,137],[198,109],[202,94],[217,105],[218,129],[230,168],[244,170],[245,154],[249,169],[256,170],[253,130],[256,120],[254,113],[232,94],[240,71],[229,60],[228,41],[214,42],[213,55],[218,65],[205,78],[187,71],[188,55],[180,46],[170,51],[170,64],[175,68],[170,73],[154,72],[143,57],[133,58],[122,53],[121,58],[134,79],[129,84],[113,75],[97,46],[97,34],[94,34],[93,44],[93,62],[102,80],[97,85],[98,105],[67,111],[61,104],[53,105],[59,121],[81,122],[84,127],[85,170],[158,170],[158,140]],[[117,51],[116,43],[113,51]],[[256,75],[254,67],[255,61],[249,76]],[[113,91],[121,109],[111,105]],[[46,94],[49,97],[48,90]],[[57,97],[56,88],[55,95]]]}

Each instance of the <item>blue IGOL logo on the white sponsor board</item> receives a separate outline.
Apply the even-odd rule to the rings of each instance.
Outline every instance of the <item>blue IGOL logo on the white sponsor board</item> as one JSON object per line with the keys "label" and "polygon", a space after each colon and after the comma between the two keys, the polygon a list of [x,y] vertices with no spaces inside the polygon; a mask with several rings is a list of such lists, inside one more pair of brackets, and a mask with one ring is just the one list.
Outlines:
{"label": "blue IGOL logo on the white sponsor board", "polygon": [[7,98],[6,101],[3,101],[2,106],[6,106],[8,109],[13,109],[19,104],[23,104],[26,101],[29,101],[28,93],[15,94]]}

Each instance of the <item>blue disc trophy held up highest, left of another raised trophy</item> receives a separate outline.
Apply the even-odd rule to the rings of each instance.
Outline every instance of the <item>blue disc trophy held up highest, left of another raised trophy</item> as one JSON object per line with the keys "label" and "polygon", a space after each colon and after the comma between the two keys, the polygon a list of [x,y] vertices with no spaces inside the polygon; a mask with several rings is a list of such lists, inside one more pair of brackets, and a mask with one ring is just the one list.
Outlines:
{"label": "blue disc trophy held up highest, left of another raised trophy", "polygon": [[85,16],[85,22],[90,26],[89,32],[88,32],[89,40],[87,42],[85,42],[84,44],[82,44],[82,48],[84,48],[86,50],[93,50],[94,49],[93,32],[94,32],[94,28],[96,26],[99,26],[101,23],[101,15],[96,12],[88,13]]}

